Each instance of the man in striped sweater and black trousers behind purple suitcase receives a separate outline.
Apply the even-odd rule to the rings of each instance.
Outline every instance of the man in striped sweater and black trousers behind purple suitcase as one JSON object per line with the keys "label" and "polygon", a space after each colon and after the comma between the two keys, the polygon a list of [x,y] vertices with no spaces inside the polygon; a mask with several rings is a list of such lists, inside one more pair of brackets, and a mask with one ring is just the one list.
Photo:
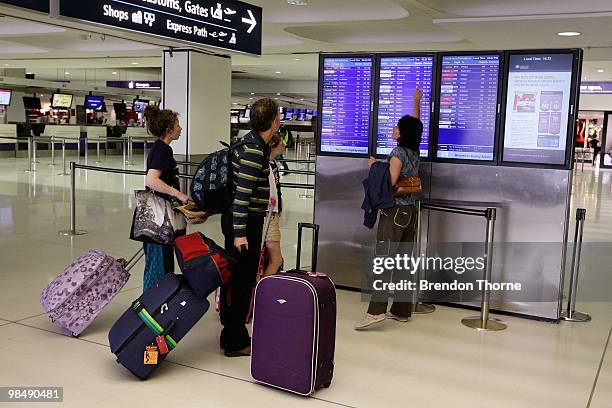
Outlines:
{"label": "man in striped sweater and black trousers behind purple suitcase", "polygon": [[245,322],[257,278],[264,218],[270,200],[268,143],[280,127],[277,103],[260,99],[251,107],[252,131],[232,154],[234,199],[221,216],[226,250],[234,250],[237,264],[221,288],[221,348],[228,357],[248,356],[251,338]]}

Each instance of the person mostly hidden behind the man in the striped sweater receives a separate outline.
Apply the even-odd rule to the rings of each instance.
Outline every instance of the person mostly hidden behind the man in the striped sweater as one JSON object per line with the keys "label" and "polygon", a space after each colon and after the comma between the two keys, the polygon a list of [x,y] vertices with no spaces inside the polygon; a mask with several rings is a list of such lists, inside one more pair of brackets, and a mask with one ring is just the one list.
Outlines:
{"label": "person mostly hidden behind the man in the striped sweater", "polygon": [[285,144],[280,132],[275,133],[270,139],[270,224],[266,234],[266,250],[269,255],[268,265],[264,276],[274,275],[283,265],[283,254],[280,247],[280,214],[283,210],[283,197],[280,186],[280,172],[278,164],[274,160],[281,157],[285,152]]}

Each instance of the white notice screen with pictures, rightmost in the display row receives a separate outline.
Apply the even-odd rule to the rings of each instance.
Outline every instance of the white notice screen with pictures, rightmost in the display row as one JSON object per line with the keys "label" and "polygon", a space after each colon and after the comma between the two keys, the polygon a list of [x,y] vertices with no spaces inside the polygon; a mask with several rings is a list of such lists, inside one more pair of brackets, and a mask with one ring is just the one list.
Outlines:
{"label": "white notice screen with pictures, rightmost in the display row", "polygon": [[503,160],[565,163],[573,54],[510,55]]}

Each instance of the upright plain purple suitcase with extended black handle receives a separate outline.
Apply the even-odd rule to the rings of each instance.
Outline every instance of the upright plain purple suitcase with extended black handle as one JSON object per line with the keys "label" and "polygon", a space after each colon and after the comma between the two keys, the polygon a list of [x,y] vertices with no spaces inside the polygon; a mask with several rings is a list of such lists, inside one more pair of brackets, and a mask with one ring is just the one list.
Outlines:
{"label": "upright plain purple suitcase with extended black handle", "polygon": [[296,269],[262,279],[255,290],[251,375],[307,396],[329,387],[334,374],[336,290],[325,274],[300,270],[303,228],[314,230],[316,269],[319,226],[300,223]]}

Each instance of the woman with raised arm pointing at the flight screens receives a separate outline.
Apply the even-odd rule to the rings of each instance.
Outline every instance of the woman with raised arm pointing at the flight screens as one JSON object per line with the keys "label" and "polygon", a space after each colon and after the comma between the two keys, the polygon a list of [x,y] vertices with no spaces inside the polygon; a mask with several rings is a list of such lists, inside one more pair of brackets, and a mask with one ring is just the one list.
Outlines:
{"label": "woman with raised arm pointing at the flight screens", "polygon": [[[423,123],[420,118],[420,105],[423,92],[417,87],[413,94],[412,116],[403,116],[393,128],[393,139],[397,147],[391,151],[387,161],[391,185],[405,177],[418,176],[419,147],[423,135]],[[376,159],[371,157],[371,166]],[[381,210],[376,235],[376,256],[394,256],[400,249],[400,243],[411,243],[416,240],[417,213],[414,194],[395,198],[395,206]],[[406,248],[402,248],[406,249]],[[386,271],[381,279],[389,281],[392,271]],[[395,280],[395,279],[394,279]],[[363,330],[385,319],[407,322],[412,315],[412,303],[398,299],[395,295],[393,305],[387,312],[389,294],[375,291],[365,317],[355,324],[355,330]]]}

